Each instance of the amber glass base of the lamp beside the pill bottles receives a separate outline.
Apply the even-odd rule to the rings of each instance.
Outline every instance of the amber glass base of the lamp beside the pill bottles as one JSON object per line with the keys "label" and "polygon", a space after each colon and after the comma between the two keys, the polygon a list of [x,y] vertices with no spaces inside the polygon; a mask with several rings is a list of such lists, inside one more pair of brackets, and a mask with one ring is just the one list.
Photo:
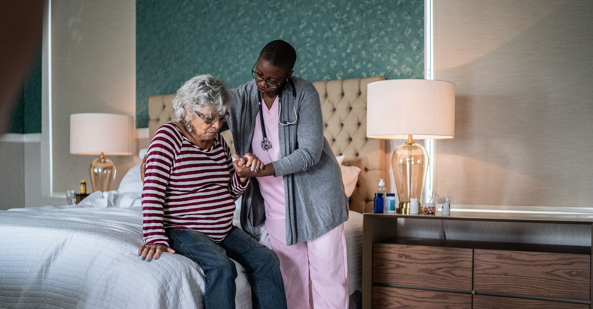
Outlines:
{"label": "amber glass base of the lamp beside the pill bottles", "polygon": [[422,188],[428,171],[428,154],[422,145],[412,142],[412,135],[409,135],[408,142],[399,145],[393,152],[391,167],[400,200],[397,212],[409,214],[410,199],[422,200]]}

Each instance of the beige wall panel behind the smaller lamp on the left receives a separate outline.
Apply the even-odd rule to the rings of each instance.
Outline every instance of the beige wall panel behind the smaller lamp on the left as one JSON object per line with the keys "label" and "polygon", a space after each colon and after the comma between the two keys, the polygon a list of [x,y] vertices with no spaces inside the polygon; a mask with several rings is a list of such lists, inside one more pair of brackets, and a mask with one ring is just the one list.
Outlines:
{"label": "beige wall panel behind the smaller lamp on the left", "polygon": [[[135,115],[136,2],[134,0],[53,0],[52,144],[53,193],[89,182],[88,167],[97,156],[69,153],[69,115]],[[110,157],[117,167],[114,188],[132,156]],[[89,188],[90,190],[90,188]]]}

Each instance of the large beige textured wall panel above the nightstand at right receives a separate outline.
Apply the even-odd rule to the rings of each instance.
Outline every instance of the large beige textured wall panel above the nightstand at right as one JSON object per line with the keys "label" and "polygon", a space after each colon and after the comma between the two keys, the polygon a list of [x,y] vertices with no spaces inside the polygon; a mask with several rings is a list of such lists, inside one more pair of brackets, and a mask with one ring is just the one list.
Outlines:
{"label": "large beige textured wall panel above the nightstand at right", "polygon": [[593,2],[434,0],[435,79],[455,138],[435,190],[470,205],[590,206]]}

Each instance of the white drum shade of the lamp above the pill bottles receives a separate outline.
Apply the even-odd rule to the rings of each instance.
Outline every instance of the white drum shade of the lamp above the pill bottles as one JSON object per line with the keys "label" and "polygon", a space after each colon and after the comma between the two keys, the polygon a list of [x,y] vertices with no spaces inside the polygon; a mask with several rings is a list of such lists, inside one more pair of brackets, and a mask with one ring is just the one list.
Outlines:
{"label": "white drum shade of the lamp above the pill bottles", "polygon": [[455,133],[455,84],[429,79],[387,79],[368,84],[366,136],[443,139]]}

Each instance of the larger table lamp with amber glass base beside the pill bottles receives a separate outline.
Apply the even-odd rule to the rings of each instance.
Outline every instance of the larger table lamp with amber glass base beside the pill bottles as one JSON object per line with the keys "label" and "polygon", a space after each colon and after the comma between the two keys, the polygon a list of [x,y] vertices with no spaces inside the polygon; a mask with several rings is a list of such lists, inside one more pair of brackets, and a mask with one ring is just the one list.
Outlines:
{"label": "larger table lamp with amber glass base beside the pill bottles", "polygon": [[421,201],[429,158],[415,139],[453,138],[455,84],[429,79],[387,79],[368,84],[366,136],[407,139],[391,156],[400,203],[410,213],[410,199]]}

